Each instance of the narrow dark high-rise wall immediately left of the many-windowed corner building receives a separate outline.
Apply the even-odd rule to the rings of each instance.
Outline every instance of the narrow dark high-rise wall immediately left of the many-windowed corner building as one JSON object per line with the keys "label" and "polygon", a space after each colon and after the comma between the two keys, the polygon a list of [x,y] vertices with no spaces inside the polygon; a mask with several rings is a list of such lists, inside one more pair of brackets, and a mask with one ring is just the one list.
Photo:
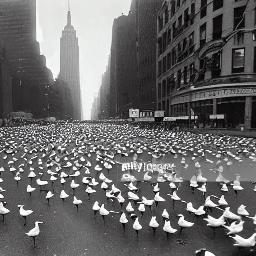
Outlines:
{"label": "narrow dark high-rise wall immediately left of the many-windowed corner building", "polygon": [[137,0],[138,101],[156,109],[157,13],[163,0]]}

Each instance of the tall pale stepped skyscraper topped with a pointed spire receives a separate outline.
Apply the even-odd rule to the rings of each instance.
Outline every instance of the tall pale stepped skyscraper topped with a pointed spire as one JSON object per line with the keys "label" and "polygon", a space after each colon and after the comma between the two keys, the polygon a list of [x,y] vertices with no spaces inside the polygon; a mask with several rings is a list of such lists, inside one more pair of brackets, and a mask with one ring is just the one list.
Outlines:
{"label": "tall pale stepped skyscraper topped with a pointed spire", "polygon": [[67,25],[60,38],[60,73],[61,80],[68,84],[72,96],[73,119],[81,120],[80,61],[79,44],[76,31],[71,24],[71,12],[68,6]]}

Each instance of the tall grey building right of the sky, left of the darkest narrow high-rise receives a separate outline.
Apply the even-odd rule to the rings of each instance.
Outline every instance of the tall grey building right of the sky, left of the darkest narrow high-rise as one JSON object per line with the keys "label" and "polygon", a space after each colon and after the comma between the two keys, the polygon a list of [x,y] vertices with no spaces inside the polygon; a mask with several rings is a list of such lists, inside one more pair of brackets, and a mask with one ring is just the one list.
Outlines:
{"label": "tall grey building right of the sky, left of the darkest narrow high-rise", "polygon": [[[133,6],[134,1],[131,10]],[[109,115],[125,118],[129,104],[138,101],[135,9],[114,19],[110,62]]]}

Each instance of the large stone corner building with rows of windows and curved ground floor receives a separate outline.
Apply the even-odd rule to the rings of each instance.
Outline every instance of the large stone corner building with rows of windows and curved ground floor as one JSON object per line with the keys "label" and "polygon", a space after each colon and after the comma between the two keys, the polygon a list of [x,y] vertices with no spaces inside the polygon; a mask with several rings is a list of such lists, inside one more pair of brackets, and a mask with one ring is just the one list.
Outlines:
{"label": "large stone corner building with rows of windows and curved ground floor", "polygon": [[229,127],[256,128],[253,6],[254,0],[164,1],[157,19],[157,110],[189,120],[223,114]]}

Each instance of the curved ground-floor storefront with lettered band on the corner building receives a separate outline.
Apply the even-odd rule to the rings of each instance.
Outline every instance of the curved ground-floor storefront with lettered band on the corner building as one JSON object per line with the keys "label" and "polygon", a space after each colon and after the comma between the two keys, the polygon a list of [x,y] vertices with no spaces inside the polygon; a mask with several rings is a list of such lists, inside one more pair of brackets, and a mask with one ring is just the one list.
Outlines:
{"label": "curved ground-floor storefront with lettered band on the corner building", "polygon": [[224,127],[256,128],[256,83],[253,85],[222,84],[180,91],[170,100],[170,115],[198,115],[200,122],[208,122],[209,115],[221,114],[225,115]]}

